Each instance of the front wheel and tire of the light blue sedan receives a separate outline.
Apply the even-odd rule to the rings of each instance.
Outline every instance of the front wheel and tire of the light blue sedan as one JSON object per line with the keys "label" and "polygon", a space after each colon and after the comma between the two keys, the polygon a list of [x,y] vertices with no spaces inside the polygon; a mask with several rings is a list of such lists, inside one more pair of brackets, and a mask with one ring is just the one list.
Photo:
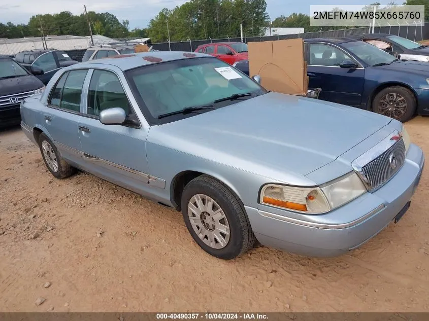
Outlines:
{"label": "front wheel and tire of the light blue sedan", "polygon": [[[198,204],[198,197],[200,197],[201,203],[200,206],[195,206],[195,204]],[[211,203],[210,199],[213,203]],[[191,200],[194,202],[193,210],[188,208],[188,206],[191,206]],[[185,186],[181,201],[183,220],[189,233],[195,242],[208,254],[219,259],[230,260],[253,247],[256,238],[250,227],[243,203],[235,193],[218,180],[208,175],[196,177]],[[211,209],[209,209],[208,204],[211,204]],[[195,209],[195,207],[197,208]],[[205,209],[205,211],[200,216],[195,214],[195,212],[202,209]],[[211,217],[210,213],[212,214]],[[222,214],[224,218],[219,219]],[[211,224],[209,229],[205,226],[203,227],[204,222]],[[229,227],[229,235],[222,233],[222,231],[227,231],[225,226]],[[197,234],[196,230],[199,231],[199,234]],[[211,238],[209,238],[209,234],[212,235]],[[208,243],[213,240],[214,243],[212,242],[212,245],[209,245]]]}

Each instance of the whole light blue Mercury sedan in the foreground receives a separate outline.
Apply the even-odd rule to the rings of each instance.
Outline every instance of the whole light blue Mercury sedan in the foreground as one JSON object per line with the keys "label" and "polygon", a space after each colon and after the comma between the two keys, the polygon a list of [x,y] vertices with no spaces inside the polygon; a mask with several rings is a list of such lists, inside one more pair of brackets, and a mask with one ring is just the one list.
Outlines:
{"label": "whole light blue Mercury sedan in the foreground", "polygon": [[221,259],[256,239],[346,253],[404,215],[424,163],[399,121],[269,92],[199,53],[61,69],[21,117],[55,177],[79,168],[171,206]]}

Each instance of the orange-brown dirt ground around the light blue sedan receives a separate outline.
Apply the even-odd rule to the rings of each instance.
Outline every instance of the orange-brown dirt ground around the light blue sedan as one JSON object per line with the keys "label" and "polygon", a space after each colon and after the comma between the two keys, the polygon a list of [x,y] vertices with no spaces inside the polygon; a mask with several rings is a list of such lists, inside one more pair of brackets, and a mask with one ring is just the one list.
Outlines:
{"label": "orange-brown dirt ground around the light blue sedan", "polygon": [[[429,118],[406,127],[427,155]],[[56,180],[19,127],[4,130],[0,311],[427,311],[428,170],[404,218],[347,255],[221,261],[179,212],[86,173]]]}

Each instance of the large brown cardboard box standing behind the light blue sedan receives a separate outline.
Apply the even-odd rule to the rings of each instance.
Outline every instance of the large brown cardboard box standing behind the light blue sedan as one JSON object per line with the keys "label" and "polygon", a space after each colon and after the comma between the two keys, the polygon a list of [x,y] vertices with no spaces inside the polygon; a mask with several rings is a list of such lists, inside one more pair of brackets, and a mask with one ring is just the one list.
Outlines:
{"label": "large brown cardboard box standing behind the light blue sedan", "polygon": [[291,95],[307,93],[307,63],[302,39],[251,42],[248,50],[249,74],[259,75],[263,87]]}

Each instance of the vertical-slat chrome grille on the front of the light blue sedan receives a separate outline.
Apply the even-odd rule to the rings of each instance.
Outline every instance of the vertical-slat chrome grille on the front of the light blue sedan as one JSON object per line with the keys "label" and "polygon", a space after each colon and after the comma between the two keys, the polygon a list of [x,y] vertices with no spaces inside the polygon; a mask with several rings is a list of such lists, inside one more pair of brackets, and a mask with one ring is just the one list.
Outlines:
{"label": "vertical-slat chrome grille on the front of the light blue sedan", "polygon": [[[361,174],[365,176],[373,191],[386,183],[402,167],[404,161],[405,144],[401,138],[383,154],[363,166]],[[391,166],[393,162],[395,162],[395,166]]]}

